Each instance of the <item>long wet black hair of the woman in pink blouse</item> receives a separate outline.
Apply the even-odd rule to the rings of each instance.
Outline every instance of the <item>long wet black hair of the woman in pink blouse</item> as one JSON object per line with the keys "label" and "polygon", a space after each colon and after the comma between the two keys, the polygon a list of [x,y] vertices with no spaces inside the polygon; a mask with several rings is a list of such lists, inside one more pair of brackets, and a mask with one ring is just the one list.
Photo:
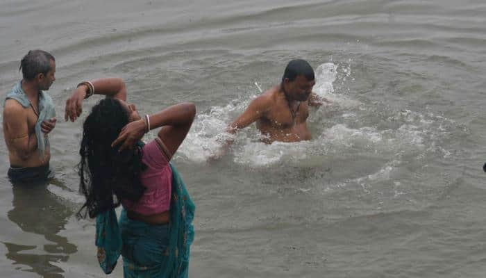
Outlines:
{"label": "long wet black hair of the woman in pink blouse", "polygon": [[[81,178],[79,191],[86,202],[78,216],[96,217],[99,213],[119,206],[121,199],[136,202],[142,197],[145,187],[140,182],[142,147],[118,152],[111,143],[121,129],[128,124],[128,111],[118,99],[107,97],[92,108],[83,124],[81,161],[78,174]],[[86,209],[82,213],[83,209]]]}

